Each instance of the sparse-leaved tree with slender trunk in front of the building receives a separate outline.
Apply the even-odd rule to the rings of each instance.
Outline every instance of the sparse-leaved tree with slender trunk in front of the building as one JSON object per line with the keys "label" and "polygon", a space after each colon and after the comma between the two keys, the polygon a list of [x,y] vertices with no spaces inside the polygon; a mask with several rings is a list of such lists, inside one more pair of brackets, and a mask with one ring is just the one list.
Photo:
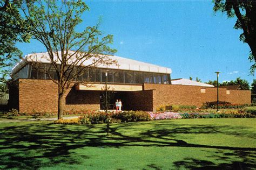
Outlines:
{"label": "sparse-leaved tree with slender trunk in front of the building", "polygon": [[[89,7],[79,1],[37,1],[26,4],[22,8],[26,19],[33,23],[30,32],[33,39],[41,42],[49,56],[48,59],[57,74],[57,80],[46,72],[50,79],[58,85],[58,119],[62,118],[64,94],[73,86],[77,77],[88,67],[96,67],[100,63],[114,63],[107,56],[116,52],[110,48],[113,36],[103,36],[96,26],[87,26],[77,32],[82,22],[82,15]],[[92,63],[85,65],[86,61]],[[34,65],[38,63],[32,63]]]}

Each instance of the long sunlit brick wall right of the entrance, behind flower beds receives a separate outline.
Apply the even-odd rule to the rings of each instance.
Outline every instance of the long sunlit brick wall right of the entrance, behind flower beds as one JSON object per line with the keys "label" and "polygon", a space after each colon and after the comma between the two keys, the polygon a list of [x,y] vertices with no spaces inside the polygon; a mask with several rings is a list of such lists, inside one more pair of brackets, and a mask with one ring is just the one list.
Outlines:
{"label": "long sunlit brick wall right of the entrance, behind flower beds", "polygon": [[[201,107],[205,102],[217,101],[217,88],[204,88],[201,93],[199,86],[184,86],[172,84],[144,84],[144,89],[155,89],[154,108],[161,105],[179,104],[196,105]],[[234,104],[250,104],[251,93],[249,90],[230,90],[226,94],[225,88],[219,88],[219,101],[228,101]]]}

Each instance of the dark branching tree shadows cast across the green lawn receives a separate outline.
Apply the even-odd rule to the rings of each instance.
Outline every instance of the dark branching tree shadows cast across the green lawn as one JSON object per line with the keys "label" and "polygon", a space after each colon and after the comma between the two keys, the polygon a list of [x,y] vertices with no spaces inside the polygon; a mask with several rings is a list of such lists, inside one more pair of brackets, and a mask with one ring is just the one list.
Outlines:
{"label": "dark branching tree shadows cast across the green lawn", "polygon": [[[52,125],[49,123],[26,123],[19,126],[8,126],[0,129],[0,169],[21,168],[36,169],[54,166],[60,163],[66,165],[80,164],[77,155],[73,153],[83,147],[116,147],[123,146],[156,146],[156,147],[194,147],[215,148],[223,155],[223,160],[230,164],[215,165],[206,160],[187,158],[174,162],[174,165],[185,168],[232,168],[239,165],[241,168],[255,167],[255,162],[248,158],[254,157],[256,148],[212,146],[187,143],[177,139],[179,134],[223,133],[233,136],[253,137],[253,134],[244,134],[245,127],[235,126],[184,126],[175,123],[157,123],[151,129],[138,129],[137,125],[150,123],[124,123],[111,125],[111,136],[105,136],[105,125]],[[168,126],[166,126],[168,125]],[[144,127],[144,128],[145,128]],[[165,128],[168,127],[168,128]],[[138,131],[129,133],[129,131]],[[225,150],[232,151],[225,155]],[[232,162],[230,156],[241,158],[241,162]],[[83,160],[90,159],[90,155],[81,155]],[[198,165],[200,165],[198,167]],[[150,164],[147,168],[161,169]]]}

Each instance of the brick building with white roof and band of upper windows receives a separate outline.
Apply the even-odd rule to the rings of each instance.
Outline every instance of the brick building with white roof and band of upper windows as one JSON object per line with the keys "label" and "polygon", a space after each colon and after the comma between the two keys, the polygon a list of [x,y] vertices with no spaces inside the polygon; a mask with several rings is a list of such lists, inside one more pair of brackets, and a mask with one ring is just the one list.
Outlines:
{"label": "brick building with white roof and band of upper windows", "polygon": [[[217,99],[217,88],[209,84],[195,84],[194,81],[183,84],[177,80],[171,81],[170,68],[119,56],[109,58],[116,60],[118,65],[97,65],[96,68],[88,68],[83,76],[78,77],[76,83],[73,83],[73,87],[66,91],[65,111],[102,109],[105,72],[108,73],[108,87],[113,91],[110,103],[121,99],[126,110],[153,111],[161,105],[170,104],[200,107],[206,101]],[[29,54],[25,59],[26,62],[22,60],[12,69],[11,76],[15,81],[10,86],[10,108],[18,109],[20,112],[57,112],[57,84],[49,80],[48,74],[45,74],[45,70],[49,70],[56,79],[48,53]],[[43,71],[42,68],[33,67],[31,62],[41,63]],[[90,61],[86,61],[86,64],[88,63]],[[181,80],[187,82],[185,79]],[[248,104],[251,102],[251,93],[248,90],[220,88],[219,100]]]}

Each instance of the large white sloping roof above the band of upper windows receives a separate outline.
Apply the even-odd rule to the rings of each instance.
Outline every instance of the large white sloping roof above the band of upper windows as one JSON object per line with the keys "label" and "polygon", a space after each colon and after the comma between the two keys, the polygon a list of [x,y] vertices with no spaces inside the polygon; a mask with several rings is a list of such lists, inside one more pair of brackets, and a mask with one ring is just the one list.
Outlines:
{"label": "large white sloping roof above the band of upper windows", "polygon": [[[60,56],[60,52],[59,56]],[[73,54],[73,51],[69,51],[69,54]],[[54,59],[57,63],[60,63],[57,55],[55,54]],[[97,58],[98,59],[98,58]],[[87,66],[93,63],[93,61],[97,60],[96,58],[90,58],[88,60],[83,61],[83,65]],[[106,65],[103,63],[98,63],[96,67],[99,68],[110,68],[110,69],[123,69],[123,70],[134,70],[134,71],[141,71],[141,72],[153,72],[153,73],[166,73],[166,74],[171,74],[172,70],[170,68],[166,67],[160,67],[157,65],[152,65],[150,63],[146,62],[141,62],[137,60],[131,60],[127,58],[122,58],[120,56],[116,55],[107,55],[106,60],[115,60],[117,61],[117,64],[111,64],[111,65]],[[12,74],[15,74],[18,72],[19,69],[24,67],[26,65],[26,62],[42,62],[42,63],[51,63],[49,59],[49,54],[47,52],[45,53],[33,53],[33,54],[28,54],[25,55],[25,58],[21,60],[17,65],[12,68]]]}

